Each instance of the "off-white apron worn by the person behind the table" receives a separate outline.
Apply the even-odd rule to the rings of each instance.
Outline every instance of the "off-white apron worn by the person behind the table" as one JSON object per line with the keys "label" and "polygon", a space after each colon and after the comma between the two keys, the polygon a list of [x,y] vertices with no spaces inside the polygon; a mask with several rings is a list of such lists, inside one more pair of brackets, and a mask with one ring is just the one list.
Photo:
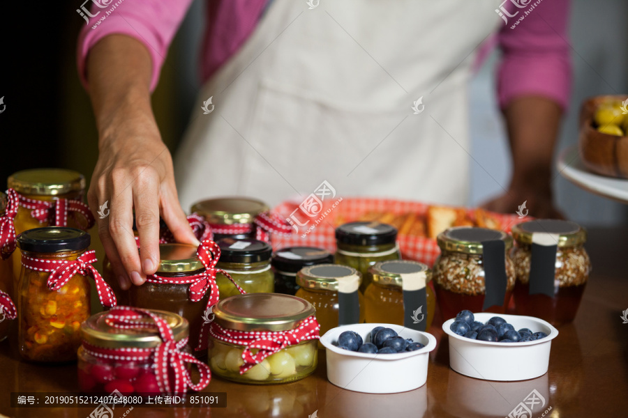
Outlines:
{"label": "off-white apron worn by the person behind the table", "polygon": [[184,210],[211,196],[274,206],[323,180],[341,196],[465,204],[467,84],[498,4],[275,0],[202,88],[175,157]]}

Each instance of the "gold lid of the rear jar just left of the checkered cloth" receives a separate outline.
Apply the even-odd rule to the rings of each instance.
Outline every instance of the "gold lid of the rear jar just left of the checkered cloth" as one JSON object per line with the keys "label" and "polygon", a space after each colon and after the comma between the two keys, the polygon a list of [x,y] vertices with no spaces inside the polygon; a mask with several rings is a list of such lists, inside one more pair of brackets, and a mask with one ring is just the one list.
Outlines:
{"label": "gold lid of the rear jar just left of the checkered cloth", "polygon": [[192,212],[205,218],[210,224],[251,224],[262,212],[267,212],[266,203],[246,197],[219,197],[195,203]]}

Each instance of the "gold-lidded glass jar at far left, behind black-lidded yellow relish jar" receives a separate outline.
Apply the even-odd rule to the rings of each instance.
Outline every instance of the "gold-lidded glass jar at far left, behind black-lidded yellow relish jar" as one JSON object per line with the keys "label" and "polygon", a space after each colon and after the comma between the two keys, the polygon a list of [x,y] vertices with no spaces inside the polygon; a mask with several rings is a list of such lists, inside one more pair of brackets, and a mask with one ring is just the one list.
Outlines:
{"label": "gold-lidded glass jar at far left, behind black-lidded yellow relish jar", "polygon": [[[85,178],[81,173],[66,169],[31,169],[17,171],[9,176],[8,187],[15,189],[20,196],[36,201],[55,201],[57,199],[73,199],[82,201],[85,190]],[[86,206],[87,208],[87,206]],[[20,205],[15,215],[15,233],[28,229],[49,226],[47,220],[39,221],[31,215],[31,209]],[[89,209],[87,209],[89,212]],[[77,229],[87,229],[89,219],[84,215],[69,216],[67,226]],[[91,212],[89,213],[91,217]],[[17,279],[20,277],[22,256],[20,250],[13,252],[13,287],[17,288]]]}

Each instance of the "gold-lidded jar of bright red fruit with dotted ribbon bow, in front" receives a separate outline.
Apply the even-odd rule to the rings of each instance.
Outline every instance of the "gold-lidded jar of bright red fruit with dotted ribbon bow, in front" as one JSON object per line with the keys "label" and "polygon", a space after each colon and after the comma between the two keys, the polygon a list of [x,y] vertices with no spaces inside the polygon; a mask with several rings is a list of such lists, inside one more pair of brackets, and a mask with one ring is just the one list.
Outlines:
{"label": "gold-lidded jar of bright red fruit with dotted ribbon bow, in front", "polygon": [[[188,321],[171,312],[115,307],[81,325],[78,382],[81,392],[118,396],[185,394],[209,384],[209,368],[192,355]],[[196,364],[200,382],[190,378]]]}

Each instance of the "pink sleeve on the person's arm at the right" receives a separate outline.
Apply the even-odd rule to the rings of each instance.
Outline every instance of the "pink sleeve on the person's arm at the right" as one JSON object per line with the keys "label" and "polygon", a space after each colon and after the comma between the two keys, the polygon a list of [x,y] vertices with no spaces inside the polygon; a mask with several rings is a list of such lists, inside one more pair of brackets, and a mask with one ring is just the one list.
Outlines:
{"label": "pink sleeve on the person's arm at the right", "polygon": [[571,90],[569,0],[537,0],[511,14],[514,11],[518,14],[509,17],[498,34],[503,52],[498,70],[500,107],[518,96],[536,94],[565,109]]}

